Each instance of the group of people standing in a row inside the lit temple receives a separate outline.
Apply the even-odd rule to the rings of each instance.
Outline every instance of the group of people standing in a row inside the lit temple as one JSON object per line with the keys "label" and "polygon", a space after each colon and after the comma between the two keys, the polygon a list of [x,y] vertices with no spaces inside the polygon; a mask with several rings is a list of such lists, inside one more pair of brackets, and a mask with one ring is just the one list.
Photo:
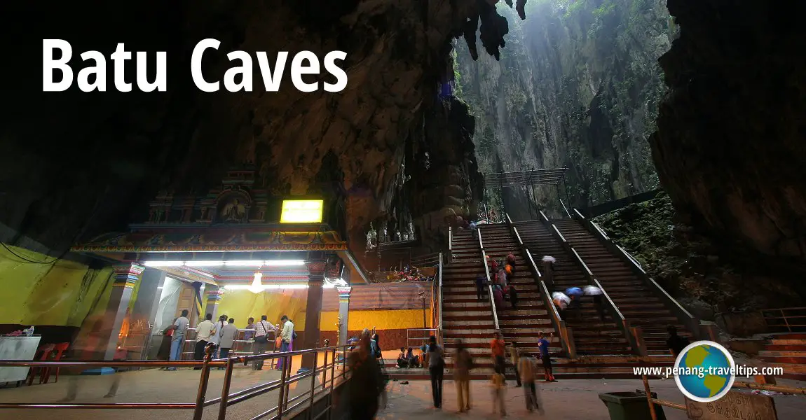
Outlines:
{"label": "group of people standing in a row inside the lit temple", "polygon": [[[281,326],[273,325],[268,322],[266,315],[261,315],[258,323],[255,323],[254,318],[248,319],[247,331],[244,333],[243,339],[247,341],[254,339],[254,354],[263,354],[268,349],[269,331],[280,331],[280,334],[276,336],[275,348],[279,348],[280,352],[293,351],[293,340],[297,338],[294,324],[286,315],[282,316],[280,322]],[[162,358],[168,360],[182,359],[182,348],[185,344],[185,336],[189,326],[188,311],[183,310],[181,315],[164,329],[164,340],[160,347],[160,356]],[[205,319],[196,326],[196,344],[193,347],[193,360],[204,358],[207,344],[214,344],[215,346],[214,359],[226,359],[235,344],[238,331],[238,327],[235,326],[235,319],[228,318],[227,315],[221,315],[216,322],[213,322],[213,315],[207,314]],[[263,369],[263,364],[264,360],[257,360],[252,364],[252,369],[261,370]],[[283,369],[283,359],[278,361],[276,369]],[[177,370],[177,368],[171,367],[168,370]]]}

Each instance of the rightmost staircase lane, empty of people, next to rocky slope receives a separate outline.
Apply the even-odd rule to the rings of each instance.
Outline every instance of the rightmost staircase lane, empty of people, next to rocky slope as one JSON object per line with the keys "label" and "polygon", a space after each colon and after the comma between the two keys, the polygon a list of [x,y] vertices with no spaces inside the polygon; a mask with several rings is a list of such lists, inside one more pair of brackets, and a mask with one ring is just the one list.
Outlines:
{"label": "rightmost staircase lane, empty of people, next to rocky slope", "polygon": [[578,220],[551,220],[559,232],[576,249],[585,264],[605,287],[613,303],[634,327],[641,327],[650,356],[667,356],[667,325],[675,325],[681,336],[691,340],[692,333],[664,306],[653,290],[588,232]]}

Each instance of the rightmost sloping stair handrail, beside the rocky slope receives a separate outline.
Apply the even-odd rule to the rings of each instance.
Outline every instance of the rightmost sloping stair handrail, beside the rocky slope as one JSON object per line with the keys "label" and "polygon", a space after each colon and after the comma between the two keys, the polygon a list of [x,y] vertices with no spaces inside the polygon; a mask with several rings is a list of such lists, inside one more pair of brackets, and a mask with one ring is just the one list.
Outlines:
{"label": "rightmost sloping stair handrail, beside the rocky slope", "polygon": [[574,212],[575,219],[580,220],[582,225],[585,229],[588,230],[594,237],[596,237],[602,245],[605,245],[605,248],[613,253],[613,255],[619,257],[621,261],[624,261],[627,266],[629,266],[630,270],[633,271],[633,274],[636,275],[639,279],[642,280],[646,284],[646,286],[650,287],[650,290],[654,290],[654,294],[661,299],[661,302],[671,310],[672,314],[675,315],[677,319],[684,326],[688,328],[689,331],[692,331],[694,336],[699,337],[700,340],[713,340],[714,338],[718,339],[718,336],[715,334],[714,327],[712,323],[702,322],[700,319],[697,319],[691,312],[686,311],[686,309],[680,305],[677,299],[671,297],[671,294],[668,294],[666,290],[661,287],[658,282],[655,282],[653,278],[651,278],[646,271],[638,264],[638,261],[635,260],[634,257],[629,255],[621,246],[616,245],[612,239],[610,239],[607,234],[598,226],[594,227],[594,223],[582,216],[579,211]]}

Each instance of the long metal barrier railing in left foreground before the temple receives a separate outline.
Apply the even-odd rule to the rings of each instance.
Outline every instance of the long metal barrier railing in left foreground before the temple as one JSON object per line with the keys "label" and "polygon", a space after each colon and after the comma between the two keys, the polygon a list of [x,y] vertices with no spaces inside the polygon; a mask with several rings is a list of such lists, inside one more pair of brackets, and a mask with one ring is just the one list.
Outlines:
{"label": "long metal barrier railing in left foreground before the temple", "polygon": [[[23,360],[0,360],[0,367],[37,367],[37,368],[105,368],[105,367],[146,367],[146,368],[179,368],[201,367],[199,376],[199,386],[194,402],[168,402],[168,403],[0,403],[0,409],[93,409],[93,410],[115,410],[115,409],[149,409],[149,410],[193,410],[193,420],[200,420],[205,407],[218,404],[218,419],[226,418],[226,409],[229,406],[247,401],[252,397],[263,395],[264,393],[279,390],[277,406],[257,414],[252,420],[267,417],[273,414],[272,418],[281,420],[293,410],[305,409],[305,404],[310,408],[317,397],[322,397],[330,393],[334,386],[339,385],[346,374],[346,358],[339,358],[347,353],[347,346],[314,348],[310,350],[299,350],[296,352],[276,352],[251,356],[232,356],[227,359],[213,360],[214,345],[208,344],[205,351],[204,360],[120,360],[120,361],[23,361]],[[322,355],[322,364],[319,363],[319,356]],[[305,371],[291,373],[291,359],[294,356],[312,356],[314,365]],[[247,389],[230,393],[232,372],[235,364],[244,365],[265,360],[283,360],[283,369],[280,379],[268,381],[260,385],[255,385]],[[336,373],[336,366],[341,365],[339,373]],[[221,397],[206,400],[207,385],[210,379],[210,369],[224,368],[224,381],[222,385]],[[328,374],[330,372],[330,374]],[[321,376],[320,376],[321,375]],[[289,386],[299,381],[310,379],[310,391],[299,393],[294,397],[289,394]],[[316,385],[316,380],[320,379],[321,386]],[[329,409],[328,409],[329,410]]]}

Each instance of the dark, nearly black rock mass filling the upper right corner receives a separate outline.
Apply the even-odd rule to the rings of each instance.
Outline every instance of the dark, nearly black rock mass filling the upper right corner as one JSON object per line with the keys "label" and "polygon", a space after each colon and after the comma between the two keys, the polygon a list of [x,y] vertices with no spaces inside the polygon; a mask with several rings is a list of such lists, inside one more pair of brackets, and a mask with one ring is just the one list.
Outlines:
{"label": "dark, nearly black rock mass filling the upper right corner", "polygon": [[651,138],[680,212],[727,246],[806,260],[804,2],[669,0],[680,36]]}

